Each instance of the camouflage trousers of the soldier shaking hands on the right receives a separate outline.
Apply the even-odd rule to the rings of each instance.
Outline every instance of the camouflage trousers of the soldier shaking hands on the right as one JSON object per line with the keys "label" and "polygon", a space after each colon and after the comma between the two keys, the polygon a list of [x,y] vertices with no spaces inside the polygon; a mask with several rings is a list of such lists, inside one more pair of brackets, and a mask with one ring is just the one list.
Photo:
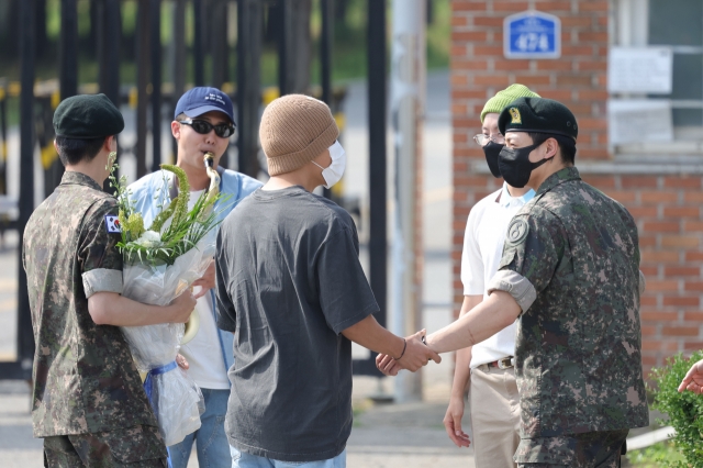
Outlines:
{"label": "camouflage trousers of the soldier shaking hands on the right", "polygon": [[599,431],[523,438],[515,461],[518,468],[620,468],[628,432]]}

